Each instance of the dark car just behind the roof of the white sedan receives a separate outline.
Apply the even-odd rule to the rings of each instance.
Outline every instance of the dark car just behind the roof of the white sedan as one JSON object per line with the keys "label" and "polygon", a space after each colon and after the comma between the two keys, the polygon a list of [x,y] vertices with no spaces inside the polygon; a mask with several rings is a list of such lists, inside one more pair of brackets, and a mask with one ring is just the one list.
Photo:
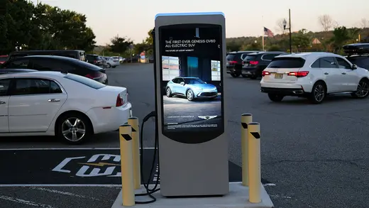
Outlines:
{"label": "dark car just behind the roof of the white sedan", "polygon": [[[0,70],[29,69],[38,71],[69,72],[75,75],[89,77],[92,80],[108,84],[105,69],[88,62],[56,55],[30,55],[13,58],[0,65]],[[1,74],[1,72],[0,72]]]}

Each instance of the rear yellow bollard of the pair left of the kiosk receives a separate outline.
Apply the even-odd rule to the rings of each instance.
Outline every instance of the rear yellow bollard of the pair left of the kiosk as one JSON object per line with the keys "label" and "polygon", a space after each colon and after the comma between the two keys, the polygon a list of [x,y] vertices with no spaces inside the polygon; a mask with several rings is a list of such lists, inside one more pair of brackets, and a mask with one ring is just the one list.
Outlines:
{"label": "rear yellow bollard of the pair left of the kiosk", "polygon": [[132,126],[132,153],[133,153],[133,187],[138,190],[141,187],[140,172],[140,128],[138,127],[138,118],[131,117],[128,124]]}

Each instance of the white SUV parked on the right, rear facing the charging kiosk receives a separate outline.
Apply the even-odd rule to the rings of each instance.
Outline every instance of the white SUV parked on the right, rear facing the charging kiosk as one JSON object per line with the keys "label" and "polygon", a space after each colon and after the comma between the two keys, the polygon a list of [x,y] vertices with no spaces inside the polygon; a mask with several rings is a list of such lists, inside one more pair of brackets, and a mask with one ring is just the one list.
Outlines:
{"label": "white SUV parked on the right, rear facing the charging kiosk", "polygon": [[261,92],[273,102],[285,96],[307,97],[319,104],[329,94],[369,95],[369,72],[334,53],[279,55],[263,70]]}

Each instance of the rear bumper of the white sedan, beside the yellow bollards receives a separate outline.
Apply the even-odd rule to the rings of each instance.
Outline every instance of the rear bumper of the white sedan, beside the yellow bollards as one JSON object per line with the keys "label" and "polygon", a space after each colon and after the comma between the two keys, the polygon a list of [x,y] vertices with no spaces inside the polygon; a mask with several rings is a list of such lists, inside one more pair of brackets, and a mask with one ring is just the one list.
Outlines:
{"label": "rear bumper of the white sedan, beside the yellow bollards", "polygon": [[102,107],[89,109],[87,116],[92,121],[94,133],[104,133],[116,131],[122,124],[128,122],[128,118],[132,116],[132,105],[128,102],[126,106],[103,109]]}

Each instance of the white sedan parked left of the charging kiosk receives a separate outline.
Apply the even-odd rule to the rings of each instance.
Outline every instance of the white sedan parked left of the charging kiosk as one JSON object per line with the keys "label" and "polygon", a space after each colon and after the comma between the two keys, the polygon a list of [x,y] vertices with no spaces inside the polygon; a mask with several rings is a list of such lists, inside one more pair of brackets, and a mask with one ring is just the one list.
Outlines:
{"label": "white sedan parked left of the charging kiosk", "polygon": [[127,89],[62,72],[0,75],[0,135],[81,143],[132,116]]}

